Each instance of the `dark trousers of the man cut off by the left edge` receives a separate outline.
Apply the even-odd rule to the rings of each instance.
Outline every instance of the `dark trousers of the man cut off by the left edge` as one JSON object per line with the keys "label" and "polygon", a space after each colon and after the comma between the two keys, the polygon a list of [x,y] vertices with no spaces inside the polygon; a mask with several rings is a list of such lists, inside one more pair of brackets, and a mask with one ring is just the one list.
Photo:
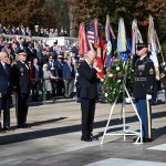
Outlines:
{"label": "dark trousers of the man cut off by the left edge", "polygon": [[[2,95],[0,97],[0,117],[1,117],[1,110],[3,110],[3,127],[10,127],[10,94]],[[1,123],[0,123],[1,127]]]}

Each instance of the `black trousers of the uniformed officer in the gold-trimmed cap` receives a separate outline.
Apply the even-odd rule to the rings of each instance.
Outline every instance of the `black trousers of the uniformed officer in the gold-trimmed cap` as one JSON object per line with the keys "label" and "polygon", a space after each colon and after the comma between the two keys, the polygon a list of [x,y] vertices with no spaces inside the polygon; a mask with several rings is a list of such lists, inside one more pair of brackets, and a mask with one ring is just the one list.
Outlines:
{"label": "black trousers of the uniformed officer in the gold-trimmed cap", "polygon": [[19,93],[17,100],[17,121],[18,125],[27,123],[29,93]]}

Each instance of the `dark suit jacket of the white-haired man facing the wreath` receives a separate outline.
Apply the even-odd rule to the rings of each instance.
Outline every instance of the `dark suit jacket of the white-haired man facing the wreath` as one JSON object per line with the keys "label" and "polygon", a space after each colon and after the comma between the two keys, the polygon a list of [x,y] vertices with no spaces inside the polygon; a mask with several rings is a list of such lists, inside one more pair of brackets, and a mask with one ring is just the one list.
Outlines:
{"label": "dark suit jacket of the white-haired man facing the wreath", "polygon": [[83,61],[77,71],[80,97],[97,98],[96,70],[91,68],[86,61]]}

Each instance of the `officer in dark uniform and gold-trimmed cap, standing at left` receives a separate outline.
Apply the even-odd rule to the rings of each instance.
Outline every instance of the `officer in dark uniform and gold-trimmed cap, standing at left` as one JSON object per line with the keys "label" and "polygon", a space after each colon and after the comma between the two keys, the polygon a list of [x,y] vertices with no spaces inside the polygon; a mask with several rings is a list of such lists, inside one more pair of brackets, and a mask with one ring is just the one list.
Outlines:
{"label": "officer in dark uniform and gold-trimmed cap, standing at left", "polygon": [[23,51],[18,53],[18,62],[12,68],[12,89],[15,91],[17,100],[17,120],[19,128],[27,128],[28,100],[30,93],[30,73],[25,64],[27,54]]}

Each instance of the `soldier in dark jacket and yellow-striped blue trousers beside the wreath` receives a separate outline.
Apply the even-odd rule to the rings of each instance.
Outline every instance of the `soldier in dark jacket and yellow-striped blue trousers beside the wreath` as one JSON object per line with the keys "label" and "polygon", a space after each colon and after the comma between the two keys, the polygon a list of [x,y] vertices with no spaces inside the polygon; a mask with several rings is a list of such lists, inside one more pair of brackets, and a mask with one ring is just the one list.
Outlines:
{"label": "soldier in dark jacket and yellow-striped blue trousers beside the wreath", "polygon": [[149,100],[155,83],[155,68],[153,61],[148,58],[147,44],[137,44],[137,55],[139,59],[135,62],[135,79],[133,96],[136,107],[142,118],[143,142],[152,142],[152,108]]}

